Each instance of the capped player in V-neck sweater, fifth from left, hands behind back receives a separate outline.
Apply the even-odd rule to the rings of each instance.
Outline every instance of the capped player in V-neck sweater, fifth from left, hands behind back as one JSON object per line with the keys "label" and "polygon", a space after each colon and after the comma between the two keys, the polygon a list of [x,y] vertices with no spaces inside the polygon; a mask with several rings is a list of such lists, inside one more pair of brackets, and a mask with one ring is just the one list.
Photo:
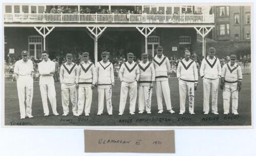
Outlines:
{"label": "capped player in V-neck sweater, fifth from left, hands behind back", "polygon": [[95,68],[96,86],[98,86],[98,114],[104,109],[104,96],[106,98],[106,109],[112,115],[112,87],[115,85],[114,67],[109,61],[108,52],[101,53],[102,60],[97,62]]}

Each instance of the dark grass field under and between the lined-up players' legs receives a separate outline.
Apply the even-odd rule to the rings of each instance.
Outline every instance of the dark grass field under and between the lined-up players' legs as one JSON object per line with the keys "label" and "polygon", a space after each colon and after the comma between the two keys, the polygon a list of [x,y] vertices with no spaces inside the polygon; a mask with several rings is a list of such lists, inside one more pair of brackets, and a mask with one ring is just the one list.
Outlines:
{"label": "dark grass field under and between the lined-up players' legs", "polygon": [[[91,106],[91,114],[89,117],[80,116],[74,117],[72,111],[67,117],[62,115],[61,106],[61,90],[60,83],[55,83],[56,98],[57,98],[57,112],[60,116],[52,115],[50,103],[49,117],[44,116],[42,109],[42,102],[38,82],[34,82],[34,96],[32,104],[32,115],[34,118],[26,118],[20,120],[19,104],[17,96],[17,88],[15,82],[5,83],[5,125],[67,125],[67,126],[237,126],[237,125],[251,125],[251,81],[250,75],[243,75],[242,90],[239,93],[239,116],[223,115],[223,100],[222,90],[219,90],[218,95],[218,109],[220,115],[203,115],[203,84],[202,79],[199,78],[199,85],[195,92],[195,115],[188,114],[188,102],[186,101],[186,113],[179,115],[179,87],[176,78],[169,79],[170,94],[172,106],[175,114],[169,114],[163,102],[163,114],[157,114],[157,100],[155,89],[152,96],[152,114],[138,114],[138,98],[136,103],[136,114],[129,114],[129,102],[126,102],[123,116],[118,116],[119,110],[119,94],[120,81],[115,81],[115,87],[112,93],[113,115],[109,116],[106,112],[104,104],[104,112],[101,116],[97,116],[98,97],[97,89],[93,91],[93,101]],[[128,100],[129,98],[127,98]],[[163,100],[164,101],[164,100]],[[70,110],[71,104],[69,105]],[[211,112],[211,110],[210,110]],[[231,112],[231,106],[230,106]]]}

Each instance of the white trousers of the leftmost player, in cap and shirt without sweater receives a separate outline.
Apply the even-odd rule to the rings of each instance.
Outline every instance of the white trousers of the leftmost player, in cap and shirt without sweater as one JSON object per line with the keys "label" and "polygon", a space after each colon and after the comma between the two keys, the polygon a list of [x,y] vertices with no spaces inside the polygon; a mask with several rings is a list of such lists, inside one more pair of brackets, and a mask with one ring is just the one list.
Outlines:
{"label": "white trousers of the leftmost player, in cap and shirt without sweater", "polygon": [[[19,76],[17,79],[17,91],[19,101],[20,118],[25,118],[32,114],[32,99],[33,99],[33,78],[30,75]],[[25,108],[25,93],[26,93],[26,108]]]}

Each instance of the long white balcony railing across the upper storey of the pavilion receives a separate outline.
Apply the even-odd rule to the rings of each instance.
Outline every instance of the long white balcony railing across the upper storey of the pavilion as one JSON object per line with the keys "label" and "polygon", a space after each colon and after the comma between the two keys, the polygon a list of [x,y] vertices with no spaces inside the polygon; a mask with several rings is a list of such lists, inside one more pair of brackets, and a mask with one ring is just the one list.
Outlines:
{"label": "long white balcony railing across the upper storey of the pavilion", "polygon": [[214,14],[66,14],[5,13],[5,23],[213,24]]}

